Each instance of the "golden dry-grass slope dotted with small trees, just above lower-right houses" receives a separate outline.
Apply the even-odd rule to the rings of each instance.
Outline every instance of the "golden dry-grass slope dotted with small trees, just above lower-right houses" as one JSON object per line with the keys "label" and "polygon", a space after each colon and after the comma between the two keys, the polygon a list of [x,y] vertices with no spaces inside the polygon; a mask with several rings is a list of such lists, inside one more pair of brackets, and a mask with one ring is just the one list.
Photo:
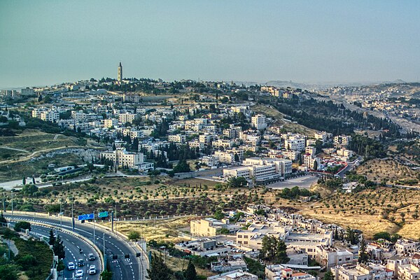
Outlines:
{"label": "golden dry-grass slope dotted with small trees, just above lower-right houses", "polygon": [[414,237],[420,223],[412,215],[420,205],[419,201],[417,190],[377,188],[360,193],[336,193],[307,205],[299,213],[324,223],[362,230],[368,238],[380,231]]}

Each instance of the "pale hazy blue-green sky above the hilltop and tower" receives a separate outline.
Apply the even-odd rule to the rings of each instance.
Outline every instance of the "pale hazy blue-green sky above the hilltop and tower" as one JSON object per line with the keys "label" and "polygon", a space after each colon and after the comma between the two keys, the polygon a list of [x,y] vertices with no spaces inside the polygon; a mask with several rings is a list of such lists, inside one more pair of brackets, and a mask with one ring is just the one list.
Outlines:
{"label": "pale hazy blue-green sky above the hilltop and tower", "polygon": [[0,0],[0,87],[420,80],[420,1]]}

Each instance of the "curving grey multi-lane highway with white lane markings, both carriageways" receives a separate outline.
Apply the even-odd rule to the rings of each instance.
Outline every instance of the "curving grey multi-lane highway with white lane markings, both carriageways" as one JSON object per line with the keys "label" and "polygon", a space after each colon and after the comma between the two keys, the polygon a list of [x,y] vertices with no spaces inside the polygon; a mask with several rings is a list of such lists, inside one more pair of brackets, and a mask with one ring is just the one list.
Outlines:
{"label": "curving grey multi-lane highway with white lane markings, both carriageways", "polygon": [[[10,221],[10,212],[7,212],[4,216],[8,218]],[[43,223],[45,225],[52,226],[57,229],[64,229],[64,230],[72,230],[71,228],[71,221],[67,219],[63,219],[61,222],[57,220],[57,218],[48,217],[48,216],[31,216],[31,214],[28,215],[22,215],[22,214],[14,214],[13,215],[13,221],[29,221],[29,223],[32,221],[34,223]],[[92,224],[92,223],[89,223]],[[49,228],[43,228],[38,225],[33,225],[34,232],[39,233],[40,235],[47,236],[49,235]],[[82,224],[79,222],[76,222],[76,226],[74,229],[74,232],[78,235],[81,235],[87,239],[90,239],[93,241],[93,228],[91,225]],[[90,265],[90,262],[86,260],[87,255],[89,253],[94,253],[93,248],[90,247],[89,244],[87,244],[82,239],[79,239],[78,237],[74,237],[73,235],[64,234],[64,232],[57,231],[57,234],[62,235],[64,240],[64,246],[66,246],[66,258],[64,259],[64,262],[67,264],[68,262],[74,262],[77,264],[77,260],[79,258],[85,259],[85,274],[86,274],[86,268],[87,265]],[[142,262],[143,258],[145,258],[144,255],[141,255],[141,257],[137,258],[136,253],[137,249],[133,244],[130,242],[127,242],[126,240],[123,240],[116,235],[113,235],[111,232],[108,232],[106,230],[102,230],[102,228],[95,227],[95,240],[94,244],[98,246],[101,250],[103,250],[104,247],[104,241],[105,241],[105,255],[108,259],[109,263],[109,269],[113,272],[113,279],[118,280],[144,280],[146,279],[146,276],[144,275],[144,269],[145,265]],[[79,248],[82,248],[83,253],[79,253]],[[113,256],[117,256],[116,259],[113,259]],[[125,258],[128,256],[129,258]],[[115,258],[115,257],[114,257]],[[76,262],[75,262],[76,261]],[[144,262],[144,260],[143,260]],[[99,262],[95,263],[97,266],[97,269],[100,269]],[[76,267],[76,269],[78,269]],[[65,277],[71,277],[73,271],[68,271],[66,269]],[[99,274],[99,272],[98,272]],[[83,277],[85,279],[85,276]],[[90,278],[89,278],[90,279]],[[92,278],[95,279],[95,278]],[[97,278],[96,278],[97,279]]]}

